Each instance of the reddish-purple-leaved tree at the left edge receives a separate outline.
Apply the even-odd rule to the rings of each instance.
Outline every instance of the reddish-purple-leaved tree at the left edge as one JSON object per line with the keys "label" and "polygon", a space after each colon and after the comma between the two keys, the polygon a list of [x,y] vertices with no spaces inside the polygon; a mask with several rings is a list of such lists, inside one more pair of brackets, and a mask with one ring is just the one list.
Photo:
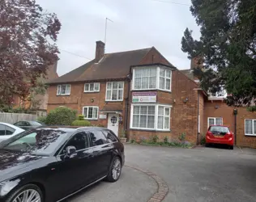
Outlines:
{"label": "reddish-purple-leaved tree at the left edge", "polygon": [[36,79],[58,60],[61,23],[35,0],[0,1],[0,105],[27,97]]}

